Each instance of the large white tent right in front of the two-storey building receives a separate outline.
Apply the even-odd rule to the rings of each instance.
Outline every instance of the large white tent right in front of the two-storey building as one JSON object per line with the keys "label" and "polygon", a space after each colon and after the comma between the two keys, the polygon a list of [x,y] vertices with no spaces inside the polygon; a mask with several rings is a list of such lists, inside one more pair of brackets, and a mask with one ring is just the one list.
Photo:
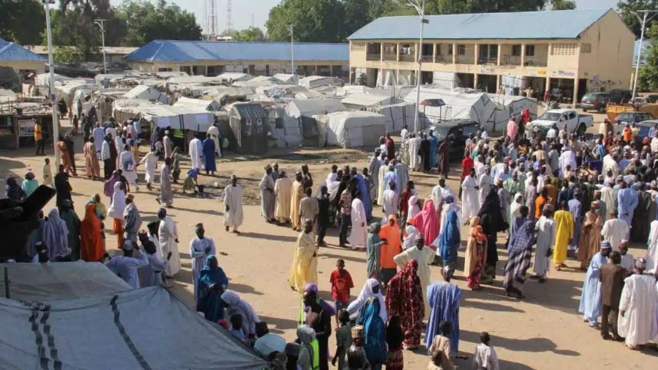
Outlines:
{"label": "large white tent right in front of the two-storey building", "polygon": [[[409,92],[403,98],[405,101],[416,103],[416,92]],[[492,131],[495,124],[496,105],[486,93],[463,93],[436,88],[420,88],[420,101],[426,99],[442,99],[443,107],[424,107],[421,105],[420,113],[432,123],[448,119],[470,119],[478,122],[488,131]],[[499,129],[499,126],[495,126]]]}

